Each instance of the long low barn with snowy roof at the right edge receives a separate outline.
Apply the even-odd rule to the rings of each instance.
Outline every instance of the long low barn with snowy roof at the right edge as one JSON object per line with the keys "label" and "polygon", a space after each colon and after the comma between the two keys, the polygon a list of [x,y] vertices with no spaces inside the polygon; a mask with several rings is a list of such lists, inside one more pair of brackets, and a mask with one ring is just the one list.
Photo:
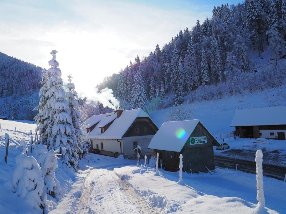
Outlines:
{"label": "long low barn with snowy roof at the right edge", "polygon": [[231,126],[241,138],[284,140],[286,134],[286,106],[237,110]]}

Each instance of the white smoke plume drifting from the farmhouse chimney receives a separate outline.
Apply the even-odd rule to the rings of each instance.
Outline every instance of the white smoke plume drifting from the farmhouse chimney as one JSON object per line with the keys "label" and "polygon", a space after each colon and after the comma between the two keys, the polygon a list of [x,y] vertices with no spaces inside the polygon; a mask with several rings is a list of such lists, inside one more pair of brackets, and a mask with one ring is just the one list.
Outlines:
{"label": "white smoke plume drifting from the farmhouse chimney", "polygon": [[110,88],[104,88],[102,90],[98,90],[98,88],[94,88],[94,93],[92,96],[89,96],[89,100],[98,101],[102,103],[103,107],[108,107],[116,110],[119,108],[119,101],[113,96],[113,90]]}

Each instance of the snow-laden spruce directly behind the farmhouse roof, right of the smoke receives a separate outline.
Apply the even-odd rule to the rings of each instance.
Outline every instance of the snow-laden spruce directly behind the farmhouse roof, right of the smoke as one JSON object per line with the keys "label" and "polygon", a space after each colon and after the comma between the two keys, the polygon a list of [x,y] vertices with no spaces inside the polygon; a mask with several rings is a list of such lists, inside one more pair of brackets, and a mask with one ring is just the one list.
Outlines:
{"label": "snow-laden spruce directly behind the farmhouse roof, right of the smoke", "polygon": [[132,106],[133,108],[141,108],[144,112],[148,113],[146,106],[146,90],[143,81],[143,68],[139,66],[139,70],[134,76],[134,84],[132,89]]}

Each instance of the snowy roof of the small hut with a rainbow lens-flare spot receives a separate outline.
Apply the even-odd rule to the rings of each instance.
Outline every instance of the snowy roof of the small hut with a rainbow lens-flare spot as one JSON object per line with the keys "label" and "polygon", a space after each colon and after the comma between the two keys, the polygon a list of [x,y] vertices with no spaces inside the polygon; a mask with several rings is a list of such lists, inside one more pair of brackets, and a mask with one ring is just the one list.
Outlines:
{"label": "snowy roof of the small hut with a rainbow lens-flare spot", "polygon": [[199,122],[199,119],[164,122],[148,148],[180,152]]}

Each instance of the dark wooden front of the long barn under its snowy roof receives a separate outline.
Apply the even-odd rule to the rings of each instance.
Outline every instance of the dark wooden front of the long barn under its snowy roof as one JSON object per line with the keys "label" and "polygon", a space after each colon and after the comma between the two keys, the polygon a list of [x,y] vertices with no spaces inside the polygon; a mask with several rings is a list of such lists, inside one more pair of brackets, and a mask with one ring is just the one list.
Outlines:
{"label": "dark wooden front of the long barn under its snowy roof", "polygon": [[[286,125],[269,125],[269,126],[235,126],[235,136],[241,138],[259,138],[259,130],[286,130]],[[285,140],[285,137],[278,138]]]}

